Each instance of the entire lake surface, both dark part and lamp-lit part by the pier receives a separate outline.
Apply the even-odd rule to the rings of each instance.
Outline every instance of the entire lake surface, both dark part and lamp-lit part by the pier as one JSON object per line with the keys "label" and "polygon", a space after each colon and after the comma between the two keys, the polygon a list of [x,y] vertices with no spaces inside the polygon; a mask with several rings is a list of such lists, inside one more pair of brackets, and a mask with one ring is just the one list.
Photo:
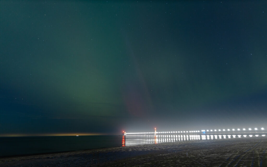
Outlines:
{"label": "entire lake surface, both dark part and lamp-lit part by the pier", "polygon": [[0,137],[0,157],[64,152],[118,146],[158,144],[189,140],[223,140],[227,138],[266,137],[266,135],[109,135]]}

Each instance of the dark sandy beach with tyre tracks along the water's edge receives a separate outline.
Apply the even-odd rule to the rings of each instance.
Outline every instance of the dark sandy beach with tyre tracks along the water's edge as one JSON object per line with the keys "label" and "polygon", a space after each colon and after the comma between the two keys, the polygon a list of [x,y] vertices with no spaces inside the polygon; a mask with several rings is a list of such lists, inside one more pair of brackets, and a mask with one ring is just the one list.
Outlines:
{"label": "dark sandy beach with tyre tracks along the water's edge", "polygon": [[178,141],[0,158],[0,166],[267,166],[267,137]]}

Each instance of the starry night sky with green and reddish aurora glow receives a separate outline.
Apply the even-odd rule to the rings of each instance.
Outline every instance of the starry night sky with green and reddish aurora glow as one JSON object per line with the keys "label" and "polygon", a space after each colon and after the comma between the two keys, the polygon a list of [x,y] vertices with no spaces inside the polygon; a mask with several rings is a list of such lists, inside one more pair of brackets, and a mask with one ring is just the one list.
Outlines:
{"label": "starry night sky with green and reddish aurora glow", "polygon": [[0,136],[267,128],[266,1],[0,1]]}

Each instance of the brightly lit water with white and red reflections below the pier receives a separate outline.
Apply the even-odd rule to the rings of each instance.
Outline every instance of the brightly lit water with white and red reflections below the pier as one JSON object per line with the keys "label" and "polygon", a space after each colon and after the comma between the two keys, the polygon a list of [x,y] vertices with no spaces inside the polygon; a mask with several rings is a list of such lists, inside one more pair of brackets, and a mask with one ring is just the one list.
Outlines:
{"label": "brightly lit water with white and red reflections below the pier", "polygon": [[265,135],[127,135],[122,138],[122,146],[158,144],[189,140],[234,139],[244,137],[261,137]]}

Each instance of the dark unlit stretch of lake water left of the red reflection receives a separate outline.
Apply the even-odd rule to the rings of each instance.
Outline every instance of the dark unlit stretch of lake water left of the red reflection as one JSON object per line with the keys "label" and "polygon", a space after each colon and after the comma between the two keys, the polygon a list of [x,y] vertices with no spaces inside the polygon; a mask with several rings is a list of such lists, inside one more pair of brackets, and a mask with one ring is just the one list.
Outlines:
{"label": "dark unlit stretch of lake water left of the red reflection", "polygon": [[0,157],[121,146],[122,136],[0,137]]}

